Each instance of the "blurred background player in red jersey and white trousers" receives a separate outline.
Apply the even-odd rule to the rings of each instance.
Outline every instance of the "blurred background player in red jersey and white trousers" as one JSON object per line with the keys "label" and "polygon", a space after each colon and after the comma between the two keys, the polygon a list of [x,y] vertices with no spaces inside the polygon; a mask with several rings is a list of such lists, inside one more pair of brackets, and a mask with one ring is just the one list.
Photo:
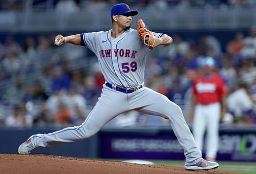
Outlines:
{"label": "blurred background player in red jersey and white trousers", "polygon": [[203,68],[203,75],[193,83],[190,121],[194,120],[193,135],[200,150],[203,149],[203,138],[207,129],[206,160],[215,161],[219,143],[219,122],[226,113],[227,90],[221,76],[214,73],[213,58],[206,57]]}

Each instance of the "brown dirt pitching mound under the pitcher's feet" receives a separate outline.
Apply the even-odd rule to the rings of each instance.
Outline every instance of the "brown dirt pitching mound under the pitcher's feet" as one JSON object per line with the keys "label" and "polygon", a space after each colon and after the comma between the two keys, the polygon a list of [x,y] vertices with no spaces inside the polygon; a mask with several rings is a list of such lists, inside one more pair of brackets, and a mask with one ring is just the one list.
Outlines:
{"label": "brown dirt pitching mound under the pitcher's feet", "polygon": [[84,160],[46,155],[0,154],[0,173],[232,173],[223,171],[186,171],[181,167],[145,165],[113,161]]}

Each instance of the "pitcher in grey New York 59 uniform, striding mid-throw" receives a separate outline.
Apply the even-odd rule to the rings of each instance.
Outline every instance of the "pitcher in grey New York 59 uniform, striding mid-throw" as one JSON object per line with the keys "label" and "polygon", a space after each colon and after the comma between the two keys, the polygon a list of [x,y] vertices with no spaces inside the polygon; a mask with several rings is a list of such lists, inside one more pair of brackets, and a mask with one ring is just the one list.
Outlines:
{"label": "pitcher in grey New York 59 uniform, striding mid-throw", "polygon": [[[37,147],[90,138],[114,117],[125,111],[136,110],[170,119],[174,133],[184,149],[186,169],[202,170],[219,166],[218,163],[201,158],[201,151],[195,144],[181,108],[164,95],[143,86],[146,54],[159,45],[172,44],[173,39],[166,34],[153,33],[154,37],[146,39],[150,41],[141,40],[137,30],[130,28],[131,16],[136,14],[138,11],[132,11],[128,5],[116,4],[111,9],[111,30],[55,37],[56,45],[68,42],[92,50],[98,57],[106,82],[98,102],[80,126],[33,135],[19,146],[19,154],[29,154]],[[137,23],[137,26],[141,29],[143,24]],[[146,46],[150,43],[152,47]]]}

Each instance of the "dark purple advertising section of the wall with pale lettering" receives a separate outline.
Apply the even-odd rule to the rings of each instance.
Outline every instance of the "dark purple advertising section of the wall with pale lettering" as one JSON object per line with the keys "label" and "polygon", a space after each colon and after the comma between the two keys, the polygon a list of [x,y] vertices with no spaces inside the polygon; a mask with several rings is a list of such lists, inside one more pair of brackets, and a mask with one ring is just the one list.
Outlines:
{"label": "dark purple advertising section of the wall with pale lettering", "polygon": [[[102,158],[184,159],[183,149],[168,127],[104,129],[99,139],[104,144]],[[203,156],[204,152],[205,148]],[[255,127],[221,127],[217,160],[256,161]]]}

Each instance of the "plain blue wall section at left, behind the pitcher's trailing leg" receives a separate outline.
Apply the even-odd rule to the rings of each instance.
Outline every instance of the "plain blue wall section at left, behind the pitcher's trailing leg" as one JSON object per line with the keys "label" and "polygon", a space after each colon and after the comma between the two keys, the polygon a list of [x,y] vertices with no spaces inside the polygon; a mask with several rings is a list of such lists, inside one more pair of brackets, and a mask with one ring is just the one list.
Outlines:
{"label": "plain blue wall section at left, behind the pitcher's trailing leg", "polygon": [[[51,133],[60,128],[8,128],[0,129],[0,153],[17,154],[19,144],[23,143],[31,135],[38,133]],[[38,148],[32,154],[57,155],[79,158],[97,158],[98,136],[88,141],[70,142],[53,147]]]}

